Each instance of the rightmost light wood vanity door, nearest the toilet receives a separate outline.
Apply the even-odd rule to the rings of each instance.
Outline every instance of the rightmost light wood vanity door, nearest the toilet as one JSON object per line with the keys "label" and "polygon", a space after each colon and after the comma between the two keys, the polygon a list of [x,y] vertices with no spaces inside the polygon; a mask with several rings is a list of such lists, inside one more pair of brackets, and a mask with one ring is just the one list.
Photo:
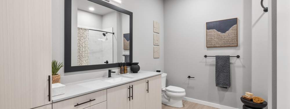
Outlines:
{"label": "rightmost light wood vanity door, nearest the toilet", "polygon": [[161,75],[146,78],[146,109],[161,109]]}

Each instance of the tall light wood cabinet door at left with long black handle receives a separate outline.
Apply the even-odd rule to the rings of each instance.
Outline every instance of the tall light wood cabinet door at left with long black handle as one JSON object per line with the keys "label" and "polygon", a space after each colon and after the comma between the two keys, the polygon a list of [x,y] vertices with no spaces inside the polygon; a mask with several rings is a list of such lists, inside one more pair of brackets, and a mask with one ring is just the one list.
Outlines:
{"label": "tall light wood cabinet door at left with long black handle", "polygon": [[51,0],[0,1],[0,106],[50,104]]}

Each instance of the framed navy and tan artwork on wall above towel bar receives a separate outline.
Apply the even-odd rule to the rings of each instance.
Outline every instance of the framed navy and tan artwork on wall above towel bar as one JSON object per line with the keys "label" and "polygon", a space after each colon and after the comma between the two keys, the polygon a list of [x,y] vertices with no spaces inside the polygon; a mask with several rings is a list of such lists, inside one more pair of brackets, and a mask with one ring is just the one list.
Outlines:
{"label": "framed navy and tan artwork on wall above towel bar", "polygon": [[206,22],[206,47],[237,47],[238,18]]}

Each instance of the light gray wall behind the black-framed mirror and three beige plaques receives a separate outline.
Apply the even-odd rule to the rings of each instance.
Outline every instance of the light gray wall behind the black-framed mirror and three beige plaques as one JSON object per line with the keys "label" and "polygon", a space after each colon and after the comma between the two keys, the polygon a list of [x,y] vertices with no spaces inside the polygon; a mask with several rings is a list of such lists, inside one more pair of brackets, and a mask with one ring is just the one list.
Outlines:
{"label": "light gray wall behind the black-framed mirror and three beige plaques", "polygon": [[[133,12],[133,62],[139,62],[142,70],[164,71],[164,26],[163,0],[122,0],[116,6]],[[150,7],[150,8],[148,8]],[[153,20],[160,23],[160,58],[153,58]],[[52,59],[64,62],[64,0],[52,0]],[[71,72],[61,76],[88,72],[101,72],[107,69]]]}

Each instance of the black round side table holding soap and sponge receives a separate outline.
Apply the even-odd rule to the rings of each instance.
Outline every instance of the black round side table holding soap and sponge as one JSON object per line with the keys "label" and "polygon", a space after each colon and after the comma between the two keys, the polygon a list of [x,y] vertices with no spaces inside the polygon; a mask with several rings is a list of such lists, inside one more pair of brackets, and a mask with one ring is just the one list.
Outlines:
{"label": "black round side table holding soap and sponge", "polygon": [[268,105],[266,101],[259,104],[259,103],[254,103],[253,101],[244,99],[243,97],[241,97],[241,101],[242,103],[244,103],[243,109],[263,109]]}

